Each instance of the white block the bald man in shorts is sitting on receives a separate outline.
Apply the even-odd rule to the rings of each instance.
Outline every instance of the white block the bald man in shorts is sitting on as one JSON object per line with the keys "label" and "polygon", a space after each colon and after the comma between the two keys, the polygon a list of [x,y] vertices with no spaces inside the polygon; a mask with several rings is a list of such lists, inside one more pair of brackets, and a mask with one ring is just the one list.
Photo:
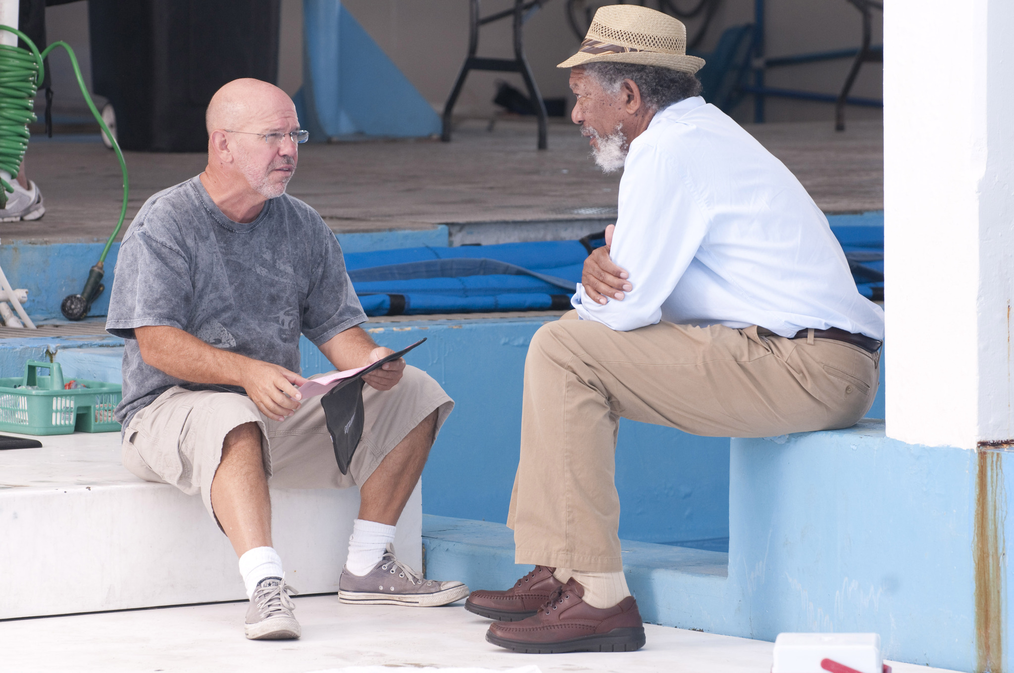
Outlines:
{"label": "white block the bald man in shorts is sitting on", "polygon": [[[37,437],[0,451],[0,619],[245,600],[228,539],[198,497],[143,481],[120,434]],[[275,547],[303,593],[338,591],[356,489],[272,489]],[[422,568],[422,489],[397,524],[399,556]]]}

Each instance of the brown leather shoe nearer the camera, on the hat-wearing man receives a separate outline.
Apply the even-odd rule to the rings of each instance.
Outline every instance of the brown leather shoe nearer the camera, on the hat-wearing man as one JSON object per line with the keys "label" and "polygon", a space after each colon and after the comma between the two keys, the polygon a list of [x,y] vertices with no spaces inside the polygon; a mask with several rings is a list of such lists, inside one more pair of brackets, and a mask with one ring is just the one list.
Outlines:
{"label": "brown leather shoe nearer the camera, on the hat-wearing man", "polygon": [[634,652],[644,647],[644,622],[633,596],[607,608],[581,600],[584,587],[576,580],[550,596],[527,619],[490,624],[486,640],[514,652]]}

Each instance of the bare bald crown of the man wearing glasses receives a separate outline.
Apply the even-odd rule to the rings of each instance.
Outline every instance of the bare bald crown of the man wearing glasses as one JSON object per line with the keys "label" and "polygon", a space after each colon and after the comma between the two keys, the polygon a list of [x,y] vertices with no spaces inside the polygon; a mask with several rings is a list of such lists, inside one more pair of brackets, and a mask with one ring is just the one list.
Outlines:
{"label": "bare bald crown of the man wearing glasses", "polygon": [[224,85],[208,103],[204,121],[208,136],[216,129],[265,133],[274,129],[245,128],[296,115],[296,106],[285,91],[260,79],[234,79]]}

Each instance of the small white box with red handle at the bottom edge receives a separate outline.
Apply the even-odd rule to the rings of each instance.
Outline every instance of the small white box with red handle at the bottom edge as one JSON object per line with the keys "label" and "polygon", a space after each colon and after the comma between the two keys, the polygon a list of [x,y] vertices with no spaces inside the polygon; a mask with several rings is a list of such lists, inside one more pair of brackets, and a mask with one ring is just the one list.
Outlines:
{"label": "small white box with red handle at the bottom edge", "polygon": [[772,673],[890,673],[878,633],[779,633]]}

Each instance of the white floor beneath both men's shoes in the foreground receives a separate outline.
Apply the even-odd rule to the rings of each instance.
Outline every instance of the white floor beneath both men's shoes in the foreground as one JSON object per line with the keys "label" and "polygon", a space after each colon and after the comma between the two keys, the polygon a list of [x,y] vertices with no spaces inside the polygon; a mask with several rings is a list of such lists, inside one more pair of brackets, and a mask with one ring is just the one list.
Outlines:
{"label": "white floor beneath both men's shoes in the foreground", "polygon": [[[771,643],[645,624],[638,652],[526,655],[485,641],[489,619],[460,604],[437,608],[344,605],[336,596],[295,598],[298,641],[247,641],[243,603],[107,612],[0,622],[3,670],[120,673],[418,672],[424,667],[542,673],[769,673]],[[893,673],[942,669],[888,662]],[[383,668],[380,668],[383,667]],[[352,673],[352,671],[348,671]]]}

